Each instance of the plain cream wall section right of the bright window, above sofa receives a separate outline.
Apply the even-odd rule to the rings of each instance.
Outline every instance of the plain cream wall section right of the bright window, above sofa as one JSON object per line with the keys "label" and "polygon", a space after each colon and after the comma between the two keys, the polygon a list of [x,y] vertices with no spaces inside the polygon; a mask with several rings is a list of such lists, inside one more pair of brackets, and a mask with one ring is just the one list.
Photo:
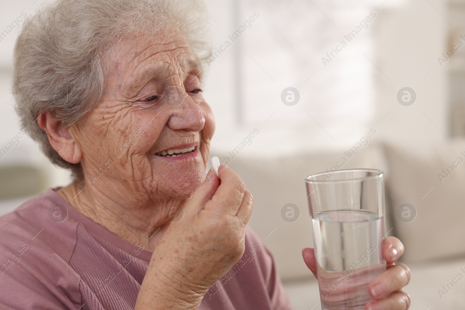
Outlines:
{"label": "plain cream wall section right of the bright window, above sofa", "polygon": [[[446,2],[438,0],[406,1],[383,11],[372,59],[392,80],[382,74],[376,77],[379,122],[392,112],[382,124],[374,124],[383,139],[412,147],[418,142],[448,140],[448,68],[438,63],[438,57],[448,48],[451,26],[447,17]],[[405,86],[417,94],[412,106],[401,106],[396,99],[399,89]]]}

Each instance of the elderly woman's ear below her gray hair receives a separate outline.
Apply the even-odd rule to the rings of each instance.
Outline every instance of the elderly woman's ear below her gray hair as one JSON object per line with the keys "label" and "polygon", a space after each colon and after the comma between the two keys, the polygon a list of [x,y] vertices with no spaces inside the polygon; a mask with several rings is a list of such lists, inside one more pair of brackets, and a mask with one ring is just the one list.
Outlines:
{"label": "elderly woman's ear below her gray hair", "polygon": [[43,112],[37,118],[39,127],[47,133],[48,141],[53,149],[68,163],[77,164],[81,160],[81,148],[74,140],[68,128],[64,128],[61,122],[49,112]]}

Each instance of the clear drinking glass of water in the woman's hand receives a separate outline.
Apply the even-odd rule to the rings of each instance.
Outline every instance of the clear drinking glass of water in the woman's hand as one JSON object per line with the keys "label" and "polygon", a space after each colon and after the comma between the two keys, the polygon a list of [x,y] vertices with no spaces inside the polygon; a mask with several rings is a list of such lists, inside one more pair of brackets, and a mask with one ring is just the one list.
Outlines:
{"label": "clear drinking glass of water in the woman's hand", "polygon": [[364,310],[368,284],[386,270],[383,171],[327,171],[305,178],[322,310]]}

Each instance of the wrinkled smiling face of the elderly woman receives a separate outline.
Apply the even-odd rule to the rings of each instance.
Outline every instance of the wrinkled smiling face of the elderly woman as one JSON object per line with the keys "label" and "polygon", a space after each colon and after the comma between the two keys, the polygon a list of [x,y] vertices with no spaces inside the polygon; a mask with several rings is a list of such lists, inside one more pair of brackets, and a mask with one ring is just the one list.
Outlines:
{"label": "wrinkled smiling face of the elderly woman", "polygon": [[106,61],[104,95],[74,130],[86,184],[189,197],[205,179],[214,120],[186,38],[123,39]]}

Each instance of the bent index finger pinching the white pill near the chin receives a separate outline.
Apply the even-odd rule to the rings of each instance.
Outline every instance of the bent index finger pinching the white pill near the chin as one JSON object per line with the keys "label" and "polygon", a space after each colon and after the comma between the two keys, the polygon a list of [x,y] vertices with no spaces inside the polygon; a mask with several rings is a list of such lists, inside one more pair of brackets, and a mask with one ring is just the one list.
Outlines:
{"label": "bent index finger pinching the white pill near the chin", "polygon": [[219,166],[218,174],[220,185],[205,209],[217,208],[219,212],[235,216],[247,190],[246,185],[236,172],[224,164]]}

